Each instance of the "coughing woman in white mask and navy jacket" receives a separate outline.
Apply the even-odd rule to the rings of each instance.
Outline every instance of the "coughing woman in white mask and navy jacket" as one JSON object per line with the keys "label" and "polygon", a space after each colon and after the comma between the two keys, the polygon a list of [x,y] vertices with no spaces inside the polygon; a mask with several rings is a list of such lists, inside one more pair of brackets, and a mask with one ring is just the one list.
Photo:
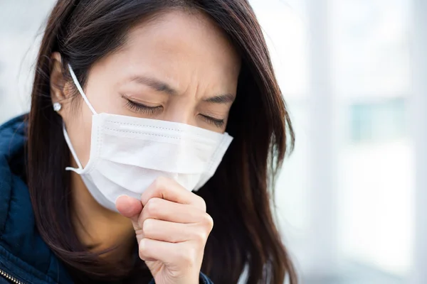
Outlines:
{"label": "coughing woman in white mask and navy jacket", "polygon": [[293,141],[246,0],[59,0],[0,130],[0,283],[296,283]]}

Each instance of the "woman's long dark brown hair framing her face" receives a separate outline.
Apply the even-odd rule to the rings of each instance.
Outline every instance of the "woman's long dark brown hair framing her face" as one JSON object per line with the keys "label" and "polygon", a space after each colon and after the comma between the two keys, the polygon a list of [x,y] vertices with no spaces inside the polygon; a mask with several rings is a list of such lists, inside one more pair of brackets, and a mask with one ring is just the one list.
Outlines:
{"label": "woman's long dark brown hair framing her face", "polygon": [[[214,19],[243,60],[227,131],[234,137],[213,178],[198,194],[215,226],[202,271],[215,283],[297,283],[273,219],[274,177],[294,134],[268,49],[247,0],[59,0],[48,18],[36,62],[28,117],[28,186],[38,231],[77,279],[120,278],[117,263],[90,253],[74,234],[70,207],[70,153],[50,94],[53,52],[73,66],[83,87],[90,67],[125,43],[143,18],[170,9],[199,9]],[[112,269],[114,268],[114,269]],[[144,279],[144,273],[139,280]],[[149,277],[149,273],[144,274]],[[80,277],[79,276],[79,277]],[[83,279],[83,278],[82,278]],[[142,282],[139,282],[142,283]]]}

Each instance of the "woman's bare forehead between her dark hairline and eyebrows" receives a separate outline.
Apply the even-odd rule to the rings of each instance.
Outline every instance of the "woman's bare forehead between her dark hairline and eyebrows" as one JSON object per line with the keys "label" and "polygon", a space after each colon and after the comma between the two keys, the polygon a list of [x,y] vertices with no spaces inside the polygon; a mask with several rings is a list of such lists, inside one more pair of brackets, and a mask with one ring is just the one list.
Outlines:
{"label": "woman's bare forehead between her dark hairline and eyebrows", "polygon": [[172,81],[200,77],[222,84],[236,81],[241,64],[221,28],[195,10],[167,11],[143,21],[107,61],[123,75],[154,72]]}

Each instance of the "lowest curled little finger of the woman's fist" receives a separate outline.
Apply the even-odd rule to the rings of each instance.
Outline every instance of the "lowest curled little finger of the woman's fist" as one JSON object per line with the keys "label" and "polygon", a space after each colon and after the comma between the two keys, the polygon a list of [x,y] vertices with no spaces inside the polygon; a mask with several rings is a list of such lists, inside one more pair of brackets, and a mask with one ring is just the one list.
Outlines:
{"label": "lowest curled little finger of the woman's fist", "polygon": [[188,268],[192,263],[197,263],[199,248],[187,243],[168,243],[144,238],[139,241],[139,258],[143,261],[157,260],[166,266],[179,265]]}

